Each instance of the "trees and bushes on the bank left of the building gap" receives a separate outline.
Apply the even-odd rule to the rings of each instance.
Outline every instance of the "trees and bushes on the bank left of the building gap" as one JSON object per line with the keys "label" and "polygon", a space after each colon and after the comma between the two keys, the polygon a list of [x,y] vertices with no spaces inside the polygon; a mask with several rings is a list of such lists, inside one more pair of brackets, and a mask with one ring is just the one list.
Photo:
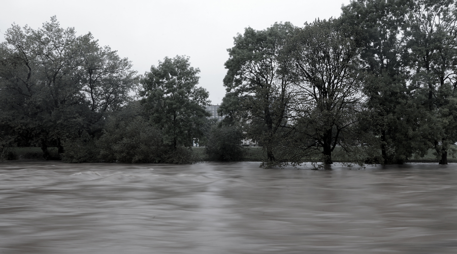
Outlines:
{"label": "trees and bushes on the bank left of the building gap", "polygon": [[[139,76],[92,35],[55,17],[13,25],[0,44],[0,157],[41,147],[64,162],[189,163],[208,129],[208,92],[184,56]],[[140,99],[138,99],[138,97]],[[52,158],[49,147],[57,147]]]}

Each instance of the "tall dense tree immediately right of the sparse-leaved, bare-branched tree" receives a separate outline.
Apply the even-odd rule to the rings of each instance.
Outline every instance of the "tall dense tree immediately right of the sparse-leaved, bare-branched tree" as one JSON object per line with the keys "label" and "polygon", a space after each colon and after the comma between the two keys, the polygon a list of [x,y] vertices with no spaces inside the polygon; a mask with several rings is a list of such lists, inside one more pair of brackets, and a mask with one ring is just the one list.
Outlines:
{"label": "tall dense tree immediately right of the sparse-leaved, bare-branched tree", "polygon": [[403,61],[405,38],[402,27],[412,7],[409,0],[356,0],[342,7],[342,23],[360,47],[364,92],[379,137],[382,163],[401,163],[417,152],[417,115],[407,62]]}

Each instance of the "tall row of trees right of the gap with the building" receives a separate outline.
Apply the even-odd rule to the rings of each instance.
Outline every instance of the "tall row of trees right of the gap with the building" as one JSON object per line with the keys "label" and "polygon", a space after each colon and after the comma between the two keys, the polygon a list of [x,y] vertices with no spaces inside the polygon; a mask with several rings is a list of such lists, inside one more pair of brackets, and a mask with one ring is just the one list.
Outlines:
{"label": "tall row of trees right of the gap with the building", "polygon": [[429,149],[447,164],[456,25],[455,1],[354,0],[338,19],[248,27],[228,49],[220,113],[265,147],[267,166],[332,164],[337,151],[347,162],[404,163]]}

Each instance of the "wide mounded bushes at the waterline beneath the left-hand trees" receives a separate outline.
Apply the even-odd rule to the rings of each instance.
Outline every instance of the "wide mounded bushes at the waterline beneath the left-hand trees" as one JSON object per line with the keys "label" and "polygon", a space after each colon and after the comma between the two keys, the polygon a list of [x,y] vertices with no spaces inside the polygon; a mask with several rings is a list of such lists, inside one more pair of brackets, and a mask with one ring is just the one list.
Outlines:
{"label": "wide mounded bushes at the waterline beneath the left-hand trees", "polygon": [[142,116],[135,104],[113,114],[104,127],[99,139],[86,134],[64,142],[62,161],[173,164],[195,161],[190,148],[164,143],[161,131]]}

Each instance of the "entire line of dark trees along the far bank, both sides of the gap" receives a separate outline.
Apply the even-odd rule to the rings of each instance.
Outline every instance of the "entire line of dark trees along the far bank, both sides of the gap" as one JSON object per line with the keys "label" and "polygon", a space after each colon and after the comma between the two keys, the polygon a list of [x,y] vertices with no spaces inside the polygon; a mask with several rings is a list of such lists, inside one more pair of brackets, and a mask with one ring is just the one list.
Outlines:
{"label": "entire line of dark trees along the far bank, both sides of the gap", "polygon": [[246,28],[225,62],[216,123],[199,69],[166,57],[139,76],[91,34],[55,17],[13,25],[0,45],[0,132],[8,147],[58,147],[67,162],[188,163],[193,143],[239,160],[241,139],[264,166],[332,155],[404,163],[457,141],[457,9],[450,0],[356,0],[340,18]]}

